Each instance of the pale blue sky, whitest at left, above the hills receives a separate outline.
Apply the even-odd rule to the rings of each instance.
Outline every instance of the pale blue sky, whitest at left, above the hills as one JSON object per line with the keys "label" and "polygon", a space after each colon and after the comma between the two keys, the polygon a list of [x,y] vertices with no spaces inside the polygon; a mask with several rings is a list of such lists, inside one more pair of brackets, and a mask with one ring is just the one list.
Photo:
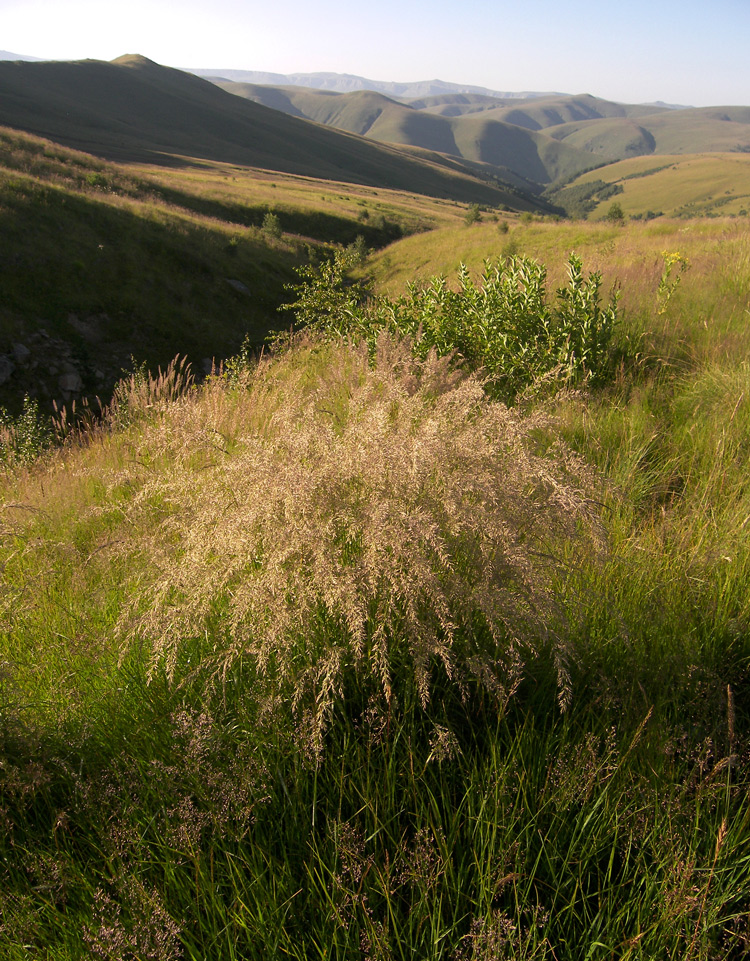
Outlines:
{"label": "pale blue sky, whitest at left, above the hills", "polygon": [[0,48],[750,105],[750,0],[0,0]]}

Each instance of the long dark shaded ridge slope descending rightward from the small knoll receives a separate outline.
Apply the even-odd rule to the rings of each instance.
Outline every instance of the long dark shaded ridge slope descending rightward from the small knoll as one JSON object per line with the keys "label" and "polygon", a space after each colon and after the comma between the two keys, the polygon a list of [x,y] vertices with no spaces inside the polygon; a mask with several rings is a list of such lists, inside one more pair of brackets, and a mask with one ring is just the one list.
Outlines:
{"label": "long dark shaded ridge slope descending rightward from the small knoll", "polygon": [[116,160],[221,160],[464,202],[512,202],[468,173],[285,116],[137,56],[0,63],[0,123]]}

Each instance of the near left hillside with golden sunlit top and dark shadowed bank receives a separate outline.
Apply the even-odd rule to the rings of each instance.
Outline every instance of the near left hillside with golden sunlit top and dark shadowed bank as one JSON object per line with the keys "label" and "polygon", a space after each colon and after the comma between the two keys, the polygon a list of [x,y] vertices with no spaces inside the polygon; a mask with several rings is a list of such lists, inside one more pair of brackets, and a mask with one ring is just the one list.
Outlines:
{"label": "near left hillside with golden sunlit top and dark shadowed bank", "polygon": [[179,352],[202,370],[283,326],[284,285],[322,246],[383,246],[464,216],[236,165],[114,164],[0,128],[0,405],[106,397],[131,356],[155,367]]}

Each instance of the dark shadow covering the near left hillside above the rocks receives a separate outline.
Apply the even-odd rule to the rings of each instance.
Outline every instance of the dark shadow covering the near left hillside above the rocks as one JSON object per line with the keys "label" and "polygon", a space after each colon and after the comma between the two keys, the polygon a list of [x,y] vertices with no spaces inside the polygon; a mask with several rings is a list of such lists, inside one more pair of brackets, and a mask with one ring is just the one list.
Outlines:
{"label": "dark shadow covering the near left hillside above the rocks", "polygon": [[66,367],[80,375],[77,393],[105,397],[131,356],[155,368],[186,354],[200,369],[246,337],[260,344],[283,326],[278,308],[298,263],[255,233],[6,181],[0,355],[19,343],[30,354],[0,384],[0,404],[16,408],[25,393],[51,401]]}

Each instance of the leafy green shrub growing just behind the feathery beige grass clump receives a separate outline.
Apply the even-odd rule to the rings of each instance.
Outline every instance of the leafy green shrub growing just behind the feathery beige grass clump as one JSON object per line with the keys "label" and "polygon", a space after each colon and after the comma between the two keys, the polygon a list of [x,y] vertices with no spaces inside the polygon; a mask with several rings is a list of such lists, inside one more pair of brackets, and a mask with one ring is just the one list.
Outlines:
{"label": "leafy green shrub growing just behind the feathery beige grass clump", "polygon": [[441,356],[457,351],[484,372],[490,393],[505,400],[540,381],[576,384],[602,380],[609,371],[618,296],[603,306],[601,275],[585,276],[574,254],[567,286],[554,298],[546,268],[526,257],[485,263],[479,282],[462,264],[456,289],[439,276],[395,300],[348,282],[351,266],[342,251],[302,268],[303,283],[289,288],[301,326],[364,339],[371,348],[380,331],[390,330],[411,337],[421,357],[433,349]]}

